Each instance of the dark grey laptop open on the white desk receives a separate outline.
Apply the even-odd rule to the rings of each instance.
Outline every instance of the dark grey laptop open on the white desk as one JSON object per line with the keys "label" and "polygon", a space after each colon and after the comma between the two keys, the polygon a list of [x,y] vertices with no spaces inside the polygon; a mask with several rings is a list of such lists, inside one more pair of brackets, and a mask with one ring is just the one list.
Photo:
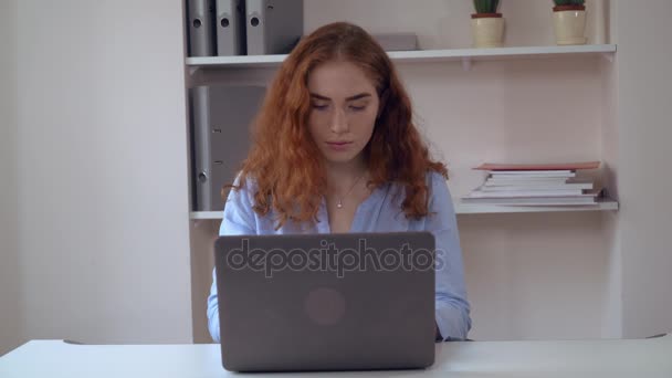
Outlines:
{"label": "dark grey laptop open on the white desk", "polygon": [[220,237],[214,254],[227,370],[434,363],[430,232]]}

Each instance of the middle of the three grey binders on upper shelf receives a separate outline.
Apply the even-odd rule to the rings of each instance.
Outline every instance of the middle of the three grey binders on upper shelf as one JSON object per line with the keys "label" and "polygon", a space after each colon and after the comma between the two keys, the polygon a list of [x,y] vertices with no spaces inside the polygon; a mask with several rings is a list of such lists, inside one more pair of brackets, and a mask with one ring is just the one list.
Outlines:
{"label": "middle of the three grey binders on upper shelf", "polygon": [[217,55],[245,55],[245,1],[217,0]]}

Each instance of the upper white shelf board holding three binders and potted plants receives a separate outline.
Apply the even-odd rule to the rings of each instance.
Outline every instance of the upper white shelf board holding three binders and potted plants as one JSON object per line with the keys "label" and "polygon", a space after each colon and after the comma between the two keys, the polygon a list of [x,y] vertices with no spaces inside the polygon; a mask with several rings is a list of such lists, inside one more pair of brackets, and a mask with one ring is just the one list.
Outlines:
{"label": "upper white shelf board holding three binders and potted plants", "polygon": [[[584,44],[569,46],[521,46],[494,49],[451,49],[391,51],[389,56],[399,63],[427,63],[450,61],[494,61],[505,59],[534,59],[568,55],[603,55],[612,59],[616,44]],[[192,69],[252,69],[276,67],[287,55],[239,55],[187,57],[186,64]]]}

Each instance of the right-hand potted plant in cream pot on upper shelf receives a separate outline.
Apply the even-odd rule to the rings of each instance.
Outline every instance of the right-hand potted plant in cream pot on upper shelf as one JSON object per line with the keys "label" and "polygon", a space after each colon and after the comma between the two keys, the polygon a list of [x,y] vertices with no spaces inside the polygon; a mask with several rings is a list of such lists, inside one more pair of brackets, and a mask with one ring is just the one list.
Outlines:
{"label": "right-hand potted plant in cream pot on upper shelf", "polygon": [[557,44],[586,44],[586,0],[553,2],[553,25]]}

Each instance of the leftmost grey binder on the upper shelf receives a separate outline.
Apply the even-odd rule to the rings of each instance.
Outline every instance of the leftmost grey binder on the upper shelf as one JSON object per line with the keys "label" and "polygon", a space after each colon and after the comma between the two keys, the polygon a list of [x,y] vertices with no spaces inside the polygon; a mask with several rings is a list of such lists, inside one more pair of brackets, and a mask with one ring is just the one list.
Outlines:
{"label": "leftmost grey binder on the upper shelf", "polygon": [[187,0],[189,56],[212,56],[214,46],[214,0]]}

